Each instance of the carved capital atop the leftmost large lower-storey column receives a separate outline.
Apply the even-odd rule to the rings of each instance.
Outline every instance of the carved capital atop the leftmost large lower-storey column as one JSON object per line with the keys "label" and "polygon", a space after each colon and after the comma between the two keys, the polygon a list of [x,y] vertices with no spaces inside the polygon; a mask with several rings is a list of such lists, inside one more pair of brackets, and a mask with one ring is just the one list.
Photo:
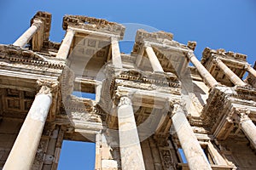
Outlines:
{"label": "carved capital atop the leftmost large lower-storey column", "polygon": [[39,79],[37,81],[37,86],[38,86],[38,94],[52,95],[52,93],[55,92],[55,90],[58,87],[58,82],[50,81],[46,79]]}

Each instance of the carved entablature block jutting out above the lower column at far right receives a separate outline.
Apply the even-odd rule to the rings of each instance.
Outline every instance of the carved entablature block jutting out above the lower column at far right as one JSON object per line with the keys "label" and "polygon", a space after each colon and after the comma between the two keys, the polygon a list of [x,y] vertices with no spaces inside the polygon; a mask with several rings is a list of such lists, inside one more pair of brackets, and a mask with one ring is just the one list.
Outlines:
{"label": "carved entablature block jutting out above the lower column at far right", "polygon": [[226,139],[235,128],[232,117],[237,116],[237,110],[249,111],[249,117],[255,120],[256,94],[253,88],[212,88],[201,118],[214,137]]}

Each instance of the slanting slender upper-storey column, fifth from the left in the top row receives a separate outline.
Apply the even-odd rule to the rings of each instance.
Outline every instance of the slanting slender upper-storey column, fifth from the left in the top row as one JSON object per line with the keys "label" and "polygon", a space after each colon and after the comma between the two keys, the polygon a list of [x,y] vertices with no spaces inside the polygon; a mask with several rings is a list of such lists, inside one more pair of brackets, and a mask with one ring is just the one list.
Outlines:
{"label": "slanting slender upper-storey column, fifth from the left in the top row", "polygon": [[196,59],[193,51],[189,51],[189,53],[187,54],[187,57],[189,58],[191,63],[195,65],[196,70],[199,72],[201,77],[207,82],[207,84],[211,88],[218,85],[218,82],[215,80],[215,78],[212,77],[212,75],[209,73],[209,71],[207,71],[204,65],[202,65],[198,59]]}

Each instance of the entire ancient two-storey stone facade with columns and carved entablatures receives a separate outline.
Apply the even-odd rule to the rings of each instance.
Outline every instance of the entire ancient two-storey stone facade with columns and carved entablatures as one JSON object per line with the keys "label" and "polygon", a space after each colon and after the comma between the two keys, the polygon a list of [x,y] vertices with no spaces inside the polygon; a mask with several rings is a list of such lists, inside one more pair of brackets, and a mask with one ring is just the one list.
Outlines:
{"label": "entire ancient two-storey stone facade with columns and carved entablatures", "polygon": [[96,170],[256,169],[246,55],[205,48],[199,61],[196,42],[143,30],[122,54],[125,26],[66,15],[50,42],[50,23],[38,12],[0,44],[0,168],[57,169],[67,139],[96,143]]}

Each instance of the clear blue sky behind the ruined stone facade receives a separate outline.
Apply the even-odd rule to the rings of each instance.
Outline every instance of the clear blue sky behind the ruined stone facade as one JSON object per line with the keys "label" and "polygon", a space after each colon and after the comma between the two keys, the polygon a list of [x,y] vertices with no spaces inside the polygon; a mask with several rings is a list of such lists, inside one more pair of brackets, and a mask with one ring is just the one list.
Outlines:
{"label": "clear blue sky behind the ruined stone facade", "polygon": [[[138,23],[153,26],[174,34],[174,40],[187,43],[196,41],[195,54],[201,58],[204,48],[225,48],[241,54],[247,54],[248,62],[256,60],[256,1],[254,0],[180,0],[180,1],[61,1],[61,0],[2,0],[0,2],[0,43],[12,43],[26,31],[30,19],[38,10],[53,15],[50,40],[61,42],[64,31],[61,28],[64,14],[82,14],[103,18],[119,23]],[[131,49],[130,49],[131,51]],[[127,51],[125,51],[127,53]],[[68,149],[71,143],[64,143]],[[67,146],[67,147],[66,147]],[[86,146],[87,147],[87,146]],[[89,165],[91,150],[77,150],[77,157]],[[69,147],[74,151],[74,146]],[[66,149],[62,151],[64,154]],[[94,152],[94,150],[92,150]],[[85,153],[85,154],[84,154]],[[62,155],[61,155],[62,156]],[[73,157],[74,155],[67,155]],[[60,167],[66,169],[93,169],[72,164]],[[94,158],[93,158],[94,159]]]}

